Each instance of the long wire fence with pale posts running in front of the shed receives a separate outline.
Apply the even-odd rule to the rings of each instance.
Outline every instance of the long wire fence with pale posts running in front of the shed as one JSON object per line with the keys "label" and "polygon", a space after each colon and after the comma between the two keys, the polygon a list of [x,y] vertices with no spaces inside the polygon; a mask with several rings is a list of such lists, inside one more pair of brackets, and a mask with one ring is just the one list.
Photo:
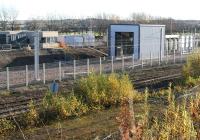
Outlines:
{"label": "long wire fence with pale posts running in front of the shed", "polygon": [[186,54],[175,54],[159,58],[149,56],[149,59],[135,60],[134,56],[101,57],[73,61],[59,61],[56,63],[40,64],[39,79],[35,79],[34,65],[7,67],[0,70],[0,89],[10,90],[19,86],[31,84],[46,84],[53,80],[77,79],[94,73],[112,73],[128,69],[143,69],[159,65],[183,63]]}

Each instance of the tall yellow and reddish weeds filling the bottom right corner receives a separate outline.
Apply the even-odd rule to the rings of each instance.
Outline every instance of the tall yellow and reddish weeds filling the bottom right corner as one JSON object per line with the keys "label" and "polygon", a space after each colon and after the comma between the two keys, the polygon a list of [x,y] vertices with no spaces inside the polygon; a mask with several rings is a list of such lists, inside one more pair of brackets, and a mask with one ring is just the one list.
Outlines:
{"label": "tall yellow and reddish weeds filling the bottom right corner", "polygon": [[[134,118],[131,118],[130,111],[127,111],[128,106],[126,106],[126,109],[122,106],[120,117],[123,117],[121,117],[122,121],[120,127],[122,128],[120,130],[126,130],[126,133],[121,133],[121,138],[125,140],[127,136],[131,136],[138,140],[199,139],[200,96],[196,96],[190,100],[183,98],[181,102],[177,102],[175,101],[175,95],[174,92],[172,92],[171,86],[169,86],[167,93],[166,108],[163,108],[161,112],[155,115],[150,112],[150,104],[147,100],[148,93],[146,92],[143,115],[135,122],[135,130],[131,130],[129,126],[130,121]],[[124,119],[126,122],[129,122],[129,124],[124,123]],[[127,131],[127,129],[129,131]]]}

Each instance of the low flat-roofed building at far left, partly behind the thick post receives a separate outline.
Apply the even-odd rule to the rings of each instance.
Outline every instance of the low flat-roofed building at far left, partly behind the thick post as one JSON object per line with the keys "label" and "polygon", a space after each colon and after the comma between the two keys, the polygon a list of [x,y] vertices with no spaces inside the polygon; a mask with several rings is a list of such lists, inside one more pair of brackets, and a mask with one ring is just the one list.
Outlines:
{"label": "low flat-roofed building at far left, partly behind the thick post", "polygon": [[[20,49],[30,45],[34,48],[35,31],[0,31],[0,50]],[[59,48],[58,31],[39,31],[40,47]]]}

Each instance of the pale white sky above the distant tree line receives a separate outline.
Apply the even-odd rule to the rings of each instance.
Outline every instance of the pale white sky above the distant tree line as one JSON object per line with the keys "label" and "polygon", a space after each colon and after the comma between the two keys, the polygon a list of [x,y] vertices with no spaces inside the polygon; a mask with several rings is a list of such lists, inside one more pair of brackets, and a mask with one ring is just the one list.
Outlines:
{"label": "pale white sky above the distant tree line", "polygon": [[0,0],[0,8],[15,8],[18,19],[45,17],[54,13],[71,18],[98,13],[129,18],[133,12],[176,19],[200,20],[199,0]]}

